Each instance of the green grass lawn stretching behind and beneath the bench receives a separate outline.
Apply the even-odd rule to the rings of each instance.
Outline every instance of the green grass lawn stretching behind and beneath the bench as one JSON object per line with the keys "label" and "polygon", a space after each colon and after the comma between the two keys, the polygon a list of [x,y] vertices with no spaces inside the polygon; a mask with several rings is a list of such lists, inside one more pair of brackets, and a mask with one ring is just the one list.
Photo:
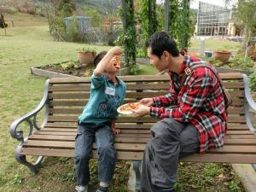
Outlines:
{"label": "green grass lawn stretching behind and beneath the bench", "polygon": [[[17,21],[7,29],[0,29],[0,191],[73,191],[75,175],[73,160],[47,158],[40,172],[32,176],[25,166],[15,160],[18,142],[9,136],[9,125],[21,115],[35,108],[44,92],[42,77],[30,73],[30,67],[76,59],[76,49],[84,44],[54,42],[44,18],[20,14],[6,15]],[[24,22],[26,21],[26,24]],[[20,21],[21,22],[21,21]],[[97,51],[107,46],[93,46]],[[141,66],[140,73],[158,73],[152,66]],[[177,191],[244,191],[230,165],[181,163]],[[124,168],[126,167],[126,168]],[[126,192],[127,162],[119,161],[111,192]],[[96,185],[96,164],[91,163],[91,186]]]}

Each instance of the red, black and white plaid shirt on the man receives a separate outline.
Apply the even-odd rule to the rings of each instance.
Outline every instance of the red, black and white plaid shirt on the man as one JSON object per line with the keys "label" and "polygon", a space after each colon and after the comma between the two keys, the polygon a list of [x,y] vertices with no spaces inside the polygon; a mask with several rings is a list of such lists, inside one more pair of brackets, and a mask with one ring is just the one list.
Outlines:
{"label": "red, black and white plaid shirt on the man", "polygon": [[185,79],[183,87],[180,87],[184,69],[201,63],[211,66],[199,58],[184,56],[180,75],[169,72],[169,93],[153,97],[154,105],[150,108],[150,115],[195,125],[200,133],[200,152],[203,153],[208,148],[220,148],[224,145],[226,112],[222,89],[211,69],[195,68]]}

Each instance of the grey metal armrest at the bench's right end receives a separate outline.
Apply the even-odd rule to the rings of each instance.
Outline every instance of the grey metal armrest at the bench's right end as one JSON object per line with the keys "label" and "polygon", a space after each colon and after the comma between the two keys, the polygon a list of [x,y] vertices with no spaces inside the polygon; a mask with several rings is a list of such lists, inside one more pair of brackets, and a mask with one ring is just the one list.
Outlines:
{"label": "grey metal armrest at the bench's right end", "polygon": [[253,111],[256,111],[256,102],[253,101],[253,97],[250,93],[249,80],[247,78],[247,75],[242,74],[242,77],[243,77],[245,100],[246,100],[245,101],[246,122],[247,122],[247,126],[249,127],[250,131],[253,131],[256,134],[256,130],[253,127],[253,123],[250,118],[250,108],[252,108]]}

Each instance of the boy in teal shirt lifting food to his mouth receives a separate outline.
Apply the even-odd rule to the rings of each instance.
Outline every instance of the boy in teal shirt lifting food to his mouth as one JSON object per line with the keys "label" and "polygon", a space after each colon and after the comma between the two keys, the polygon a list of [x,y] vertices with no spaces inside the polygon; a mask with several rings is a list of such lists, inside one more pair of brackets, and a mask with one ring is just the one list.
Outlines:
{"label": "boy in teal shirt lifting food to his mouth", "polygon": [[78,179],[76,190],[79,192],[88,191],[89,160],[94,137],[98,151],[100,181],[96,192],[108,191],[108,185],[113,178],[116,155],[113,133],[119,133],[119,130],[115,129],[115,119],[118,115],[116,109],[124,102],[126,90],[125,83],[116,77],[120,66],[115,55],[121,53],[119,47],[113,47],[108,53],[102,52],[95,59],[96,69],[91,76],[90,99],[79,116],[79,129],[75,139],[74,160]]}

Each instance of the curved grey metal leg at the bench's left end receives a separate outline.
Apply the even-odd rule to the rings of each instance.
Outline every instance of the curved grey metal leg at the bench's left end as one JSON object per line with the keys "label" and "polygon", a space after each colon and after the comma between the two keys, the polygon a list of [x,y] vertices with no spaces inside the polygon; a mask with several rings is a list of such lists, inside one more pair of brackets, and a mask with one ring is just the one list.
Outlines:
{"label": "curved grey metal leg at the bench's left end", "polygon": [[38,160],[36,161],[36,163],[35,163],[35,164],[32,164],[32,163],[30,163],[30,162],[27,162],[27,160],[26,160],[26,155],[20,154],[21,148],[22,148],[22,145],[21,145],[21,144],[18,146],[18,148],[16,148],[16,152],[15,152],[15,158],[16,158],[16,160],[17,160],[20,164],[22,164],[22,165],[24,165],[24,166],[27,166],[27,167],[30,169],[30,171],[32,172],[32,174],[36,174],[36,173],[39,171],[39,166],[40,166],[42,160],[44,160],[44,156],[39,156],[39,157],[38,157]]}

